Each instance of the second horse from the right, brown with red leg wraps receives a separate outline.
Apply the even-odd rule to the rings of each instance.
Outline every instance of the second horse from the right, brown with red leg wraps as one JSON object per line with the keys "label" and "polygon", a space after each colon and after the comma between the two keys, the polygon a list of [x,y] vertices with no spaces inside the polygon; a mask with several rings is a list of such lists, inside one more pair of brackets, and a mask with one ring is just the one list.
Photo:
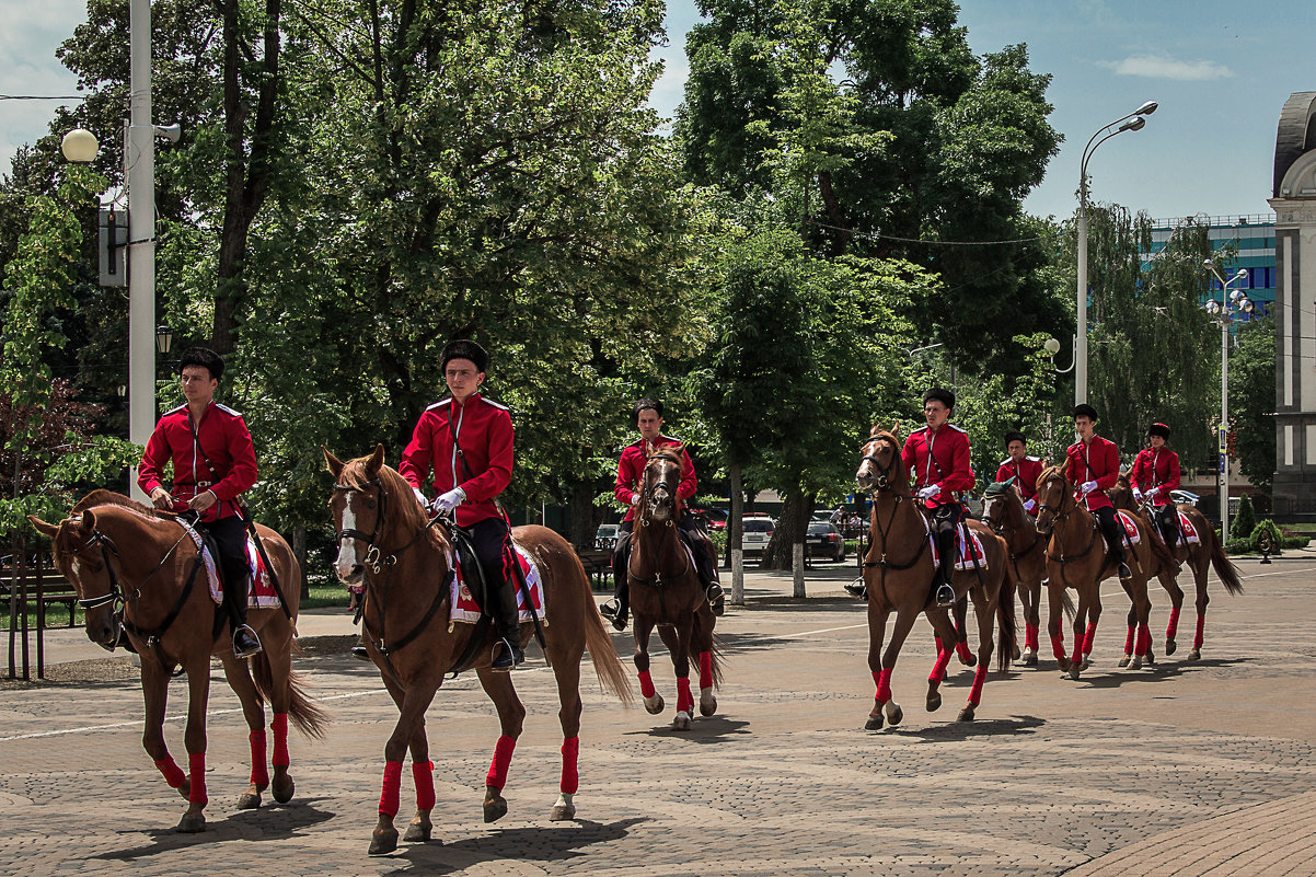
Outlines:
{"label": "second horse from the right, brown with red leg wraps", "polygon": [[[1133,516],[1133,523],[1138,541],[1128,550],[1126,562],[1132,575],[1120,579],[1120,586],[1133,604],[1130,623],[1138,624],[1133,660],[1129,664],[1136,670],[1142,666],[1144,660],[1154,662],[1152,633],[1148,629],[1152,612],[1148,579],[1162,561],[1154,553],[1155,543],[1146,524],[1137,516]],[[1119,566],[1107,558],[1105,539],[1098,528],[1096,516],[1074,499],[1074,486],[1059,466],[1051,466],[1037,477],[1037,532],[1050,537],[1046,545],[1046,590],[1050,598],[1046,628],[1051,637],[1051,652],[1061,672],[1078,679],[1090,665],[1096,623],[1101,618],[1101,582],[1116,574]],[[1163,544],[1161,550],[1165,552]],[[1061,607],[1067,587],[1078,591],[1073,657],[1065,654],[1065,633],[1061,629]]]}

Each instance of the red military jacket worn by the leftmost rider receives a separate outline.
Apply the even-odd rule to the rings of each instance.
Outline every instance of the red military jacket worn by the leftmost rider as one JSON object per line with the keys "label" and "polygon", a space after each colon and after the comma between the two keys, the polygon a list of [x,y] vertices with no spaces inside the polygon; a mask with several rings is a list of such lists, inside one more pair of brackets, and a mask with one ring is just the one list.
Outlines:
{"label": "red military jacket worn by the leftmost rider", "polygon": [[218,500],[201,512],[205,523],[240,514],[237,498],[255,483],[251,433],[242,415],[216,402],[201,413],[195,433],[186,404],[166,412],[155,424],[142,453],[142,465],[137,469],[137,486],[147,496],[164,486],[164,465],[171,460],[174,511],[186,511],[187,502],[207,490]]}

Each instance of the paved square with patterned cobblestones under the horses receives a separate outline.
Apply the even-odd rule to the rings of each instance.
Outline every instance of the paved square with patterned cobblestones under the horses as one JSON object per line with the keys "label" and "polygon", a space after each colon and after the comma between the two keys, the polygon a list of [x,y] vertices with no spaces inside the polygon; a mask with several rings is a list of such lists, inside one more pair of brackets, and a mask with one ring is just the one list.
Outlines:
{"label": "paved square with patterned cobblestones under the horses", "polygon": [[[882,732],[862,731],[867,627],[862,604],[840,595],[846,577],[819,571],[811,598],[794,600],[788,578],[755,574],[749,606],[720,623],[717,714],[692,731],[667,728],[665,657],[654,661],[665,716],[622,708],[586,670],[575,822],[547,820],[561,732],[542,661],[515,677],[529,718],[511,811],[492,826],[480,812],[492,706],[474,677],[445,685],[428,718],[436,841],[378,859],[366,847],[396,712],[370,665],[336,649],[300,660],[334,723],[322,741],[292,736],[296,797],[258,811],[234,807],[246,732],[216,672],[201,835],[174,832],[184,805],[141,749],[134,682],[11,689],[0,691],[0,873],[1311,874],[1316,649],[1300,632],[1316,616],[1316,553],[1240,566],[1244,597],[1212,587],[1202,661],[1184,661],[1190,602],[1178,654],[1117,669],[1126,602],[1108,586],[1084,678],[1062,679],[1053,661],[994,673],[973,723],[954,722],[973,678],[958,662],[945,706],[924,711],[932,636],[920,622],[894,679],[904,723]],[[1161,654],[1166,599],[1153,599]],[[629,633],[615,643],[629,658]],[[184,685],[171,695],[180,716]],[[183,761],[179,720],[167,736]]]}

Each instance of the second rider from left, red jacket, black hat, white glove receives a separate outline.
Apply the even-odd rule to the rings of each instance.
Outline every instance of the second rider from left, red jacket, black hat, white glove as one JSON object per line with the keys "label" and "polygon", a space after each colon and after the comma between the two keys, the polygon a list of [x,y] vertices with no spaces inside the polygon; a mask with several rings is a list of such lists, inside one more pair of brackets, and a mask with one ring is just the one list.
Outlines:
{"label": "second rider from left, red jacket, black hat, white glove", "polygon": [[[496,502],[512,481],[512,416],[479,392],[490,362],[484,348],[465,338],[453,341],[441,361],[453,395],[425,408],[397,471],[421,506],[442,515],[455,510],[454,520],[467,532],[484,571],[486,610],[500,637],[491,669],[507,672],[525,661],[516,593],[503,560],[512,531]],[[432,467],[437,496],[429,502],[420,489]],[[470,565],[462,571],[471,581],[479,575]]]}

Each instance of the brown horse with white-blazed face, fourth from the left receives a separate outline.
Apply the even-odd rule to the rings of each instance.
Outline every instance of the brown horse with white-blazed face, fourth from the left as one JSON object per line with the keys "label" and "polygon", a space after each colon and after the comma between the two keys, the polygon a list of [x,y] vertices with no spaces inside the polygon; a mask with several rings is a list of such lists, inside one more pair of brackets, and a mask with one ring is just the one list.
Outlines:
{"label": "brown horse with white-blazed face, fourth from the left", "polygon": [[[863,583],[869,600],[869,670],[876,682],[873,711],[865,723],[866,731],[882,730],[883,716],[892,726],[900,724],[904,711],[891,694],[891,672],[895,669],[900,647],[919,614],[928,616],[937,635],[937,660],[928,676],[926,708],[941,707],[941,681],[955,651],[959,637],[950,615],[933,602],[932,579],[936,568],[932,560],[928,520],[915,504],[909,491],[909,473],[900,456],[900,441],[892,432],[874,425],[861,448],[859,469],[854,481],[859,490],[873,499],[869,532],[871,541],[863,560]],[[967,520],[967,527],[982,541],[986,569],[958,571],[953,577],[957,597],[967,593],[978,616],[978,669],[969,693],[969,702],[957,720],[971,722],[982,702],[995,644],[992,616],[1000,628],[1000,651],[996,669],[1005,672],[1015,648],[1013,591],[1005,586],[1005,541],[991,533],[979,521]],[[954,562],[954,558],[945,558]],[[967,598],[966,598],[967,599]],[[882,649],[887,620],[896,614],[895,628],[886,651]]]}

